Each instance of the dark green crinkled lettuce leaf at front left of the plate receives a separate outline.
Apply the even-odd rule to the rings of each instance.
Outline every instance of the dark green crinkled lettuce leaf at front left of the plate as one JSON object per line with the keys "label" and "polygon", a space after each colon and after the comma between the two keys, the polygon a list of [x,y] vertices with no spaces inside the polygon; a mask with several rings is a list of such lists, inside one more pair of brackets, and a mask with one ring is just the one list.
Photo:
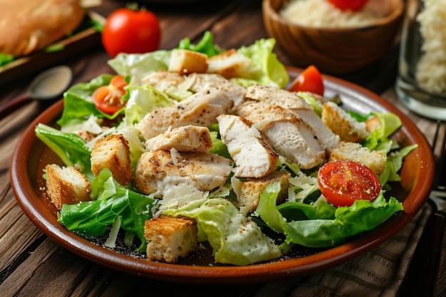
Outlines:
{"label": "dark green crinkled lettuce leaf at front left of the plate", "polygon": [[144,225],[152,218],[155,199],[121,186],[106,169],[91,183],[91,198],[88,202],[63,204],[58,222],[85,236],[103,236],[119,216],[120,227],[138,236],[138,251],[145,251]]}

